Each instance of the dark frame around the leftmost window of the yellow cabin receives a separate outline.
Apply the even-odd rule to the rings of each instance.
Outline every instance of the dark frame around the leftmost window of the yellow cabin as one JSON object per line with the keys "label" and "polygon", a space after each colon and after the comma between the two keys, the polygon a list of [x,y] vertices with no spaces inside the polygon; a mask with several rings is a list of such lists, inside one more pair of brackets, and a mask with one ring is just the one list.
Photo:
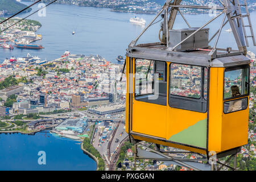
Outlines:
{"label": "dark frame around the leftmost window of the yellow cabin", "polygon": [[[134,86],[134,100],[136,100],[136,101],[139,101],[139,102],[145,102],[145,103],[148,103],[148,104],[156,104],[156,105],[161,105],[161,106],[167,106],[167,94],[166,94],[166,102],[164,103],[164,104],[159,104],[159,103],[154,103],[154,102],[146,102],[146,101],[141,101],[141,100],[138,100],[138,99],[136,99],[136,97],[143,97],[143,96],[150,96],[150,95],[152,95],[152,93],[147,93],[147,94],[139,94],[139,95],[137,95],[136,96],[136,93],[135,93],[135,88],[136,88],[136,61],[137,61],[137,59],[140,59],[140,60],[148,60],[148,61],[150,61],[150,64],[151,64],[151,61],[154,61],[154,67],[155,67],[155,61],[159,61],[159,60],[154,60],[154,59],[143,59],[143,58],[134,58],[134,84],[133,84],[133,86]],[[165,67],[165,78],[166,78],[166,92],[167,92],[167,61],[159,61],[159,62],[164,62],[164,67]],[[153,80],[152,81],[152,83],[153,83],[153,85],[154,85],[154,82],[155,82],[155,80]],[[154,96],[154,95],[153,95]]]}

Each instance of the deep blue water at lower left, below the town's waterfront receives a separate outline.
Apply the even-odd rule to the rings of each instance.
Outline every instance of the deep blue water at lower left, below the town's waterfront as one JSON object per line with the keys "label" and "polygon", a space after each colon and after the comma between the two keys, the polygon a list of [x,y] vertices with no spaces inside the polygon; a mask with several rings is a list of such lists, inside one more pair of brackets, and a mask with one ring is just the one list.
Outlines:
{"label": "deep blue water at lower left, below the town's waterfront", "polygon": [[[96,170],[96,162],[83,153],[78,143],[81,142],[53,137],[49,132],[35,135],[0,134],[0,171]],[[39,151],[46,152],[45,165],[38,163],[42,156],[38,155]]]}

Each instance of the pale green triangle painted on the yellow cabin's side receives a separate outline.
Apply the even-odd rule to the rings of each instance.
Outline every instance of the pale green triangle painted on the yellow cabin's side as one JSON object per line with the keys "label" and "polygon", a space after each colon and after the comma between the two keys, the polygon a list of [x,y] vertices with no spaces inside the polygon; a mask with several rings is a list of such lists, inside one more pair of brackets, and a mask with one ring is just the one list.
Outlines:
{"label": "pale green triangle painted on the yellow cabin's side", "polygon": [[187,129],[172,135],[169,138],[172,142],[189,144],[195,147],[206,148],[207,143],[207,119],[201,120],[195,125],[189,126]]}

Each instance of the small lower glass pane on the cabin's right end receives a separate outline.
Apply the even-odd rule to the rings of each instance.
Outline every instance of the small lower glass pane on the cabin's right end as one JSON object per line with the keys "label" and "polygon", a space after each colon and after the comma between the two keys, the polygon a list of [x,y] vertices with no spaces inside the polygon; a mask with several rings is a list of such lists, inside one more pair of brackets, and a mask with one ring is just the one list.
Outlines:
{"label": "small lower glass pane on the cabin's right end", "polygon": [[247,108],[247,98],[224,102],[224,113],[232,113]]}

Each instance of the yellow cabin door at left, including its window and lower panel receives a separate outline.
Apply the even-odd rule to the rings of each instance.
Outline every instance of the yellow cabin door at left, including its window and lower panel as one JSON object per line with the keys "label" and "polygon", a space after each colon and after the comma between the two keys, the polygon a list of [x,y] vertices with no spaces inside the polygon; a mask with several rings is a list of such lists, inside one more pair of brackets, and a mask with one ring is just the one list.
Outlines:
{"label": "yellow cabin door at left, including its window and lower panel", "polygon": [[165,61],[133,59],[131,130],[166,138],[167,64]]}

